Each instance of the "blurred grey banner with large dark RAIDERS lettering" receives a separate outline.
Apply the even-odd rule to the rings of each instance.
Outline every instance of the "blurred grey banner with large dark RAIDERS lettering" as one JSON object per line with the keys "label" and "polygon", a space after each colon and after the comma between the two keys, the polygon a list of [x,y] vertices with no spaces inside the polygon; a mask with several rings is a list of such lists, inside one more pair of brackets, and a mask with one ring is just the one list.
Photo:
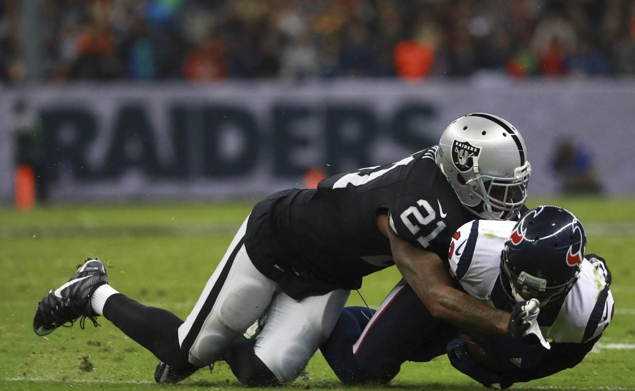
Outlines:
{"label": "blurred grey banner with large dark RAIDERS lettering", "polygon": [[[632,102],[635,81],[624,80],[0,86],[0,200],[12,202],[25,150],[50,200],[257,199],[304,186],[312,168],[332,175],[399,161],[475,112],[523,135],[530,196],[558,192],[552,161],[564,142],[585,152],[607,194],[632,194]],[[451,158],[469,170],[480,147],[455,143]]]}

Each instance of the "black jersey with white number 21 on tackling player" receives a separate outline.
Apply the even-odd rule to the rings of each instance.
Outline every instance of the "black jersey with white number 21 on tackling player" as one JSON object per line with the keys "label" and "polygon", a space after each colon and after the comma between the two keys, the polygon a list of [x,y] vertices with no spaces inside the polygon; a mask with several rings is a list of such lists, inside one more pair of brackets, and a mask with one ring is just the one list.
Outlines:
{"label": "black jersey with white number 21 on tackling player", "polygon": [[292,298],[358,289],[364,275],[394,264],[377,226],[384,212],[395,235],[446,259],[450,236],[474,216],[436,165],[436,149],[265,198],[248,220],[251,261]]}

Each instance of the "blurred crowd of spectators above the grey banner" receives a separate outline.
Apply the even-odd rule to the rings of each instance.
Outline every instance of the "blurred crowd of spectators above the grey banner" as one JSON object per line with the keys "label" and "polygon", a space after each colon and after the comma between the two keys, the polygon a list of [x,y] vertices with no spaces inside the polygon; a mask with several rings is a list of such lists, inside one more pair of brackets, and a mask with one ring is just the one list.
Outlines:
{"label": "blurred crowd of spectators above the grey banner", "polygon": [[[0,0],[0,79],[25,78]],[[635,74],[632,0],[39,0],[41,78]]]}

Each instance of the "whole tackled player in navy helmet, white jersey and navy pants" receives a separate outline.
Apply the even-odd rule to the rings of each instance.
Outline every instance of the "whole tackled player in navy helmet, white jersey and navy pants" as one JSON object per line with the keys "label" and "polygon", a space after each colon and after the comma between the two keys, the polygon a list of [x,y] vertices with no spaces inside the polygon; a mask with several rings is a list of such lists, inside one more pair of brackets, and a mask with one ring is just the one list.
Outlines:
{"label": "whole tackled player in navy helmet, white jersey and navy pants", "polygon": [[[381,364],[363,367],[359,360],[337,356],[334,346],[354,335],[350,326],[348,330],[340,327],[340,321],[321,350],[338,377],[349,384],[389,381],[405,360],[428,361],[443,353],[462,373],[483,385],[498,383],[502,388],[573,367],[599,340],[615,310],[610,271],[603,258],[585,256],[585,246],[582,224],[560,207],[537,207],[518,223],[471,221],[451,239],[450,274],[470,296],[512,311],[512,319],[520,312],[536,319],[525,338],[458,330],[436,320],[407,335],[384,332],[381,338],[368,333],[380,317],[384,324],[399,324],[400,317],[411,310],[391,308],[395,303],[408,303],[411,292],[401,284],[370,321],[359,315],[360,308],[346,308],[340,317],[344,320],[352,313],[363,329],[354,343],[354,353],[359,345],[371,346],[384,355],[379,359]],[[398,296],[406,299],[394,300]],[[516,303],[526,305],[514,306]],[[407,356],[386,354],[380,347],[385,345],[414,348]]]}

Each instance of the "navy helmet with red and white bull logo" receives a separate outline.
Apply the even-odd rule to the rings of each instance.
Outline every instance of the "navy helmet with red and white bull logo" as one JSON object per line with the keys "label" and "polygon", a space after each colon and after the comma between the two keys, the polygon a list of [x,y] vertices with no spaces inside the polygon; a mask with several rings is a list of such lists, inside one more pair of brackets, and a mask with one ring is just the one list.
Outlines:
{"label": "navy helmet with red and white bull logo", "polygon": [[578,280],[586,245],[582,224],[568,210],[531,209],[516,223],[501,254],[500,278],[510,288],[505,291],[514,302],[536,298],[547,305]]}

